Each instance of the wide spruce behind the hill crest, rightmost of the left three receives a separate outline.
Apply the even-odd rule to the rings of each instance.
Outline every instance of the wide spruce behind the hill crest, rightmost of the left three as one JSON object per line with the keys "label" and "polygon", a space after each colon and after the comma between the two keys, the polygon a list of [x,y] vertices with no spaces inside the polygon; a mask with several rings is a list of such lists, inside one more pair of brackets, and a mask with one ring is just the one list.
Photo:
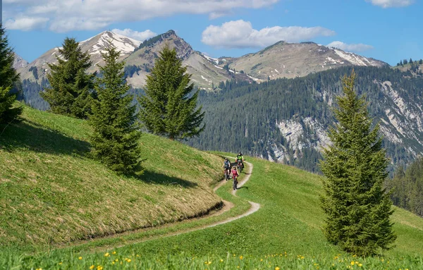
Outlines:
{"label": "wide spruce behind the hill crest, rightmost of the left three", "polygon": [[198,90],[190,96],[194,85],[186,70],[176,50],[164,47],[147,76],[145,96],[138,99],[140,120],[151,133],[175,140],[204,130],[204,112],[201,106],[197,108]]}

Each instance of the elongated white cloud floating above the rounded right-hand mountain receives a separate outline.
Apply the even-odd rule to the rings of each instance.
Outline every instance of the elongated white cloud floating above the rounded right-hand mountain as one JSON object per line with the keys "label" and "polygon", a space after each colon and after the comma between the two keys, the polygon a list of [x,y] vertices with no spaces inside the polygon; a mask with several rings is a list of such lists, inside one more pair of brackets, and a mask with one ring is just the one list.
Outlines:
{"label": "elongated white cloud floating above the rounded right-hand mountain", "polygon": [[266,27],[262,30],[252,28],[245,20],[231,20],[221,26],[210,25],[202,32],[201,41],[213,47],[247,48],[266,47],[278,41],[300,42],[314,37],[327,37],[335,32],[324,27]]}

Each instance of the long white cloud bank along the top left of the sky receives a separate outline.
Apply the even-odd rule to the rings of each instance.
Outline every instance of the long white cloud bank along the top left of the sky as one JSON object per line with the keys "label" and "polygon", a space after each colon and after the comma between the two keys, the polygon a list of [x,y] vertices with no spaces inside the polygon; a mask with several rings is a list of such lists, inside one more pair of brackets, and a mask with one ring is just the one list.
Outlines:
{"label": "long white cloud bank along the top left of the sky", "polygon": [[[174,14],[207,14],[218,18],[237,8],[263,8],[280,0],[3,0],[6,20],[45,18],[56,32],[97,30],[111,23],[130,22]],[[30,24],[28,24],[30,25]],[[26,25],[25,30],[29,30]],[[19,29],[19,28],[16,28]]]}

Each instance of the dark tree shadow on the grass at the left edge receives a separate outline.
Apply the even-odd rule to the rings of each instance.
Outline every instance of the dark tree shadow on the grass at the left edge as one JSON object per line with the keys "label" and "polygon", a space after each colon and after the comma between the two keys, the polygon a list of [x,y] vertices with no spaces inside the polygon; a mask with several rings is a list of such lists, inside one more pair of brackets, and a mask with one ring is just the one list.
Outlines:
{"label": "dark tree shadow on the grass at the left edge", "polygon": [[0,149],[14,152],[26,148],[32,152],[47,154],[79,154],[90,151],[88,142],[63,135],[56,130],[49,130],[37,123],[21,121],[8,126],[0,125]]}

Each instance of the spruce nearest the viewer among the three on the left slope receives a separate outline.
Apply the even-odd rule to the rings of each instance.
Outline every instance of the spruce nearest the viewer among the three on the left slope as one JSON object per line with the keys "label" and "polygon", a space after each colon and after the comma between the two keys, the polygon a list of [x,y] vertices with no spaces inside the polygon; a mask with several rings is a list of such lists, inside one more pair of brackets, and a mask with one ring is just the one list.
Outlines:
{"label": "spruce nearest the viewer among the three on the left slope", "polygon": [[140,127],[137,124],[133,96],[125,81],[125,62],[118,61],[120,51],[109,44],[102,54],[105,66],[97,78],[98,99],[92,102],[90,123],[92,154],[106,166],[120,173],[140,171]]}

